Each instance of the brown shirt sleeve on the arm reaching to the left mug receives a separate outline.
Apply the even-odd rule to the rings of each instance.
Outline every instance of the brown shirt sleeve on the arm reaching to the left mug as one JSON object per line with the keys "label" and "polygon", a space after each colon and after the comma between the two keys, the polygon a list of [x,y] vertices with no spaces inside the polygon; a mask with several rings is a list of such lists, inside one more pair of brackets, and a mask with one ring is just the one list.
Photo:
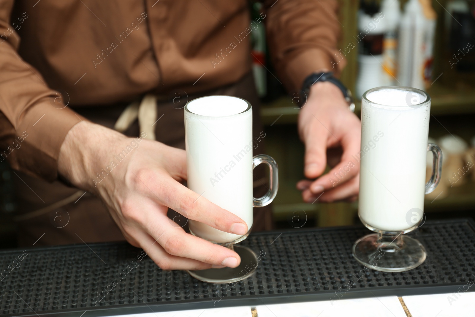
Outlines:
{"label": "brown shirt sleeve on the arm reaching to the left mug", "polygon": [[[12,6],[13,0],[0,0],[0,162],[8,160],[15,170],[54,181],[61,144],[84,118],[64,107],[62,96],[17,53],[20,38],[12,26],[17,23],[10,25]],[[28,13],[23,15],[18,18]]]}

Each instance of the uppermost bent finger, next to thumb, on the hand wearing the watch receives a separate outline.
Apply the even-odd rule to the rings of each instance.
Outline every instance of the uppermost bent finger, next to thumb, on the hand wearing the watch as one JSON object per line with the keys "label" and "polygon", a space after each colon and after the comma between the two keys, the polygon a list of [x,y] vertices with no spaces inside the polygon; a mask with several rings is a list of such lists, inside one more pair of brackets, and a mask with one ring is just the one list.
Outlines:
{"label": "uppermost bent finger, next to thumb, on the hand wearing the watch", "polygon": [[[359,123],[358,123],[359,125]],[[330,172],[319,177],[311,186],[310,190],[314,194],[325,190],[341,186],[352,179],[360,171],[360,134],[359,127],[348,128],[342,137],[343,154],[340,163],[338,163]]]}

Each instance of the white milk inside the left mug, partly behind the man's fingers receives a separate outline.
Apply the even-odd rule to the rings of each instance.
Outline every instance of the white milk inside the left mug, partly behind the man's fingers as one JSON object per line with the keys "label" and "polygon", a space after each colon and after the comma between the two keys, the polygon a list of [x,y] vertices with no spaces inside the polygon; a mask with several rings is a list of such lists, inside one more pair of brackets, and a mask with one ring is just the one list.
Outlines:
{"label": "white milk inside the left mug, partly behind the man's fingers", "polygon": [[[185,134],[188,188],[237,215],[250,230],[253,223],[250,105],[231,96],[192,100],[185,108]],[[241,237],[192,220],[190,230],[200,238],[218,243]]]}

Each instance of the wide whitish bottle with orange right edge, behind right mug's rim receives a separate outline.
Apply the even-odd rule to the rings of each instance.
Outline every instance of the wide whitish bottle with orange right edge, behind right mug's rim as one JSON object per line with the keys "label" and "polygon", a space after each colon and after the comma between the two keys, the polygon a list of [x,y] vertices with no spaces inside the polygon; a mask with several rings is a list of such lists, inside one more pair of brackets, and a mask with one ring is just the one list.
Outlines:
{"label": "wide whitish bottle with orange right edge, behind right mug's rim", "polygon": [[399,85],[430,86],[435,28],[436,13],[428,0],[406,3],[399,28]]}

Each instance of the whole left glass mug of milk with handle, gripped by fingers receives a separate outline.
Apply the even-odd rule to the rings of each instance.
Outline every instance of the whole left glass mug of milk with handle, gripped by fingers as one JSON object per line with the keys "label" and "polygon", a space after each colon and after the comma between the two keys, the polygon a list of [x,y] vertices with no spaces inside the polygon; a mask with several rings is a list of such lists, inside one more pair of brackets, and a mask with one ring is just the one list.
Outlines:
{"label": "whole left glass mug of milk with handle, gripped by fingers", "polygon": [[[253,207],[268,205],[277,194],[277,163],[268,155],[252,156],[252,106],[232,96],[206,96],[184,108],[188,188],[246,221],[249,231],[239,236],[190,220],[190,233],[235,250],[241,257],[237,268],[189,271],[209,283],[246,279],[257,268],[256,254],[234,245],[247,238],[253,224]],[[269,191],[254,198],[252,170],[260,163],[270,170]]]}

